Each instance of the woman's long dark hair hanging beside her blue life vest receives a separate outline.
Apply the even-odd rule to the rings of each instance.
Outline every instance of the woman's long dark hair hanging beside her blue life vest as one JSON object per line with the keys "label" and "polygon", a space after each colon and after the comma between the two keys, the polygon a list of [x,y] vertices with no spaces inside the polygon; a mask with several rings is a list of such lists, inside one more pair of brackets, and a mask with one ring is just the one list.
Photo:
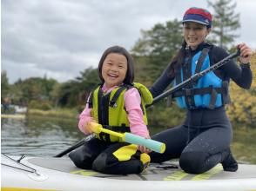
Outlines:
{"label": "woman's long dark hair hanging beside her blue life vest", "polygon": [[172,58],[171,63],[167,66],[168,76],[174,77],[175,72],[177,72],[181,67],[185,59],[186,43],[182,43],[182,47],[179,52]]}

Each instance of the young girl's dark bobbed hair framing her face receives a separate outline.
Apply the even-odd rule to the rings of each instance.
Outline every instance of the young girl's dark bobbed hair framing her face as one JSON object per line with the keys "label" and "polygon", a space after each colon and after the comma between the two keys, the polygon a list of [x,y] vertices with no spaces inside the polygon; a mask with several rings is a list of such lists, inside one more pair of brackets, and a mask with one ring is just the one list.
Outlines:
{"label": "young girl's dark bobbed hair framing her face", "polygon": [[126,57],[127,60],[127,72],[125,76],[124,83],[125,84],[131,84],[134,80],[134,67],[133,67],[133,59],[131,57],[131,54],[123,47],[120,46],[112,46],[106,50],[104,50],[103,55],[101,56],[99,63],[98,63],[98,76],[100,78],[100,81],[104,83],[104,79],[102,76],[102,65],[104,63],[104,59],[106,56],[108,56],[111,53],[117,53],[120,55],[123,55]]}

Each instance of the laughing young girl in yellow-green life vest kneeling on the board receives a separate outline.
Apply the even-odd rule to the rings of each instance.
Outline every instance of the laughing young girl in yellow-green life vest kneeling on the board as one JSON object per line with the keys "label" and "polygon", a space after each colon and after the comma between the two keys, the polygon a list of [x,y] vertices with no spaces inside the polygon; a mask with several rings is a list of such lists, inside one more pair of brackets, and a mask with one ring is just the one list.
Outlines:
{"label": "laughing young girl in yellow-green life vest kneeling on the board", "polygon": [[[145,104],[152,95],[142,84],[134,83],[131,55],[119,46],[104,51],[98,63],[101,84],[91,91],[78,128],[91,134],[90,122],[117,132],[130,132],[150,138],[146,127]],[[120,142],[118,137],[100,133],[71,152],[71,160],[78,168],[93,169],[105,174],[127,175],[142,172],[150,162],[147,148]]]}

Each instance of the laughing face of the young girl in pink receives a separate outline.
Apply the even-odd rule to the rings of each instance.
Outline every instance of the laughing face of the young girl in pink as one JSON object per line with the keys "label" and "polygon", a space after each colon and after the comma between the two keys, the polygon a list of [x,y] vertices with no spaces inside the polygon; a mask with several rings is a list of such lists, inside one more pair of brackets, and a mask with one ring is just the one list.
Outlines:
{"label": "laughing face of the young girl in pink", "polygon": [[125,80],[127,72],[127,59],[124,55],[110,53],[105,57],[102,65],[102,77],[107,88],[118,86]]}

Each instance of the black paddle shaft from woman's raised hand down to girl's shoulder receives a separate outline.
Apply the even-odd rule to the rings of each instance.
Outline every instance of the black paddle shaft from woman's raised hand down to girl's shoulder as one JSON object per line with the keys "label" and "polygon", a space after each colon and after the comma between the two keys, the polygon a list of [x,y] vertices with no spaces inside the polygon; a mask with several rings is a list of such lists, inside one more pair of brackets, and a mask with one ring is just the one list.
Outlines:
{"label": "black paddle shaft from woman's raised hand down to girl's shoulder", "polygon": [[213,71],[214,69],[218,69],[219,67],[223,66],[224,64],[229,62],[231,59],[233,59],[233,58],[235,58],[235,57],[237,57],[239,55],[240,55],[240,49],[238,49],[236,53],[232,53],[230,56],[226,56],[224,59],[219,61],[219,63],[213,64],[208,69],[204,69],[203,71],[194,74],[190,78],[186,79],[184,82],[181,82],[177,86],[174,86],[172,89],[168,89],[163,94],[156,96],[153,99],[152,104],[146,105],[146,108],[152,106],[153,104],[155,104],[156,102],[158,102],[161,99],[165,98],[166,96],[172,95],[174,92],[178,91],[179,89],[183,89],[183,88],[185,88],[185,86],[187,86],[189,84],[192,84],[193,82],[197,82],[200,77],[205,76],[205,74],[207,74],[210,71]]}

